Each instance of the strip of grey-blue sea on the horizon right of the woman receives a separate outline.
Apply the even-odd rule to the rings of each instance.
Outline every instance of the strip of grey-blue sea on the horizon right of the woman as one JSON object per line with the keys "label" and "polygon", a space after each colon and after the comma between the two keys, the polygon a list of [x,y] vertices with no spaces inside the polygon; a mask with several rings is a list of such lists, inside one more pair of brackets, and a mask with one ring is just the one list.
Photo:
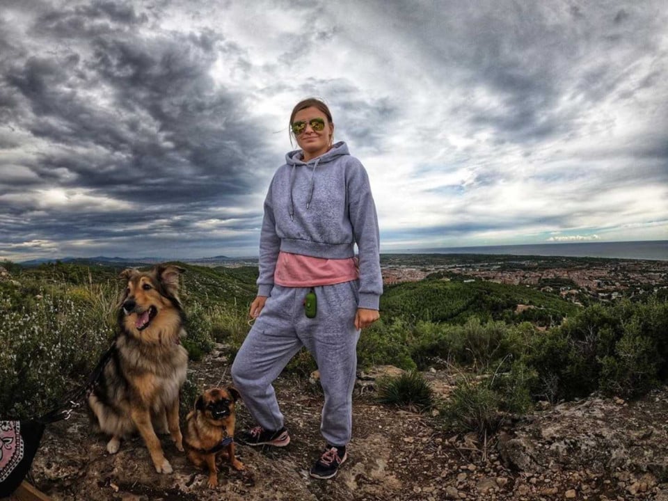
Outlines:
{"label": "strip of grey-blue sea on the horizon right of the woman", "polygon": [[392,253],[539,255],[668,261],[668,240],[414,248],[395,250]]}

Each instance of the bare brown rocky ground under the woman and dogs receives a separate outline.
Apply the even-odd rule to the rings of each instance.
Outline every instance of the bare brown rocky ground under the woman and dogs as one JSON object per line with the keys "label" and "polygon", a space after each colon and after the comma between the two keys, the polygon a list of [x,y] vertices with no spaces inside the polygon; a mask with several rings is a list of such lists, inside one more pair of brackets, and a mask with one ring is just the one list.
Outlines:
{"label": "bare brown rocky ground under the woman and dogs", "polygon": [[[200,388],[215,385],[227,362],[216,351],[191,364]],[[441,395],[450,374],[425,376]],[[106,453],[84,411],[49,425],[33,462],[33,481],[54,500],[655,500],[668,501],[668,388],[644,399],[589,399],[544,405],[509,422],[486,446],[475,436],[449,434],[438,416],[382,406],[371,379],[358,381],[353,400],[350,459],[329,481],[308,477],[324,445],[319,434],[321,391],[308,379],[276,382],[292,443],[280,450],[240,445],[247,472],[223,467],[216,490],[207,475],[167,436],[174,472],[155,472],[140,438]],[[223,378],[223,384],[229,377]],[[239,427],[250,418],[239,406]]]}

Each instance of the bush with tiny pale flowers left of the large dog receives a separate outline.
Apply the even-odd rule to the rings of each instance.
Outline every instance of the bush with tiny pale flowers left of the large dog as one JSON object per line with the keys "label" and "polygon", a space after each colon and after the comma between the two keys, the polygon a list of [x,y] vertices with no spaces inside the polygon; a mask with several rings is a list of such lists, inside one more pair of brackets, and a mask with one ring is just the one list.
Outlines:
{"label": "bush with tiny pale flowers left of the large dog", "polygon": [[14,309],[6,296],[0,309],[0,408],[6,418],[49,411],[81,383],[108,347],[113,330],[95,305],[65,294],[40,294],[32,308]]}

